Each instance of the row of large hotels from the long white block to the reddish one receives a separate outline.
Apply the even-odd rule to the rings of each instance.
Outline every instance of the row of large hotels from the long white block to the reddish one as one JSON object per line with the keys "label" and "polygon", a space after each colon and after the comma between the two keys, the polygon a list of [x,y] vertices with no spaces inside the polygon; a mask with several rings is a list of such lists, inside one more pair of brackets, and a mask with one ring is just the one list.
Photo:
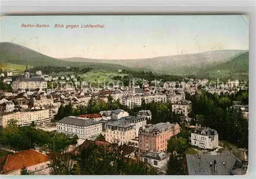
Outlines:
{"label": "row of large hotels from the long white block to the reddish one", "polygon": [[70,137],[77,135],[83,140],[91,140],[102,134],[106,142],[132,146],[138,151],[138,157],[142,161],[150,163],[159,170],[166,168],[169,159],[166,152],[167,141],[180,132],[179,124],[169,122],[147,124],[147,119],[151,116],[151,111],[148,110],[139,111],[137,116],[130,116],[121,109],[101,111],[99,115],[101,117],[98,115],[65,117],[57,122],[57,132],[65,133]]}

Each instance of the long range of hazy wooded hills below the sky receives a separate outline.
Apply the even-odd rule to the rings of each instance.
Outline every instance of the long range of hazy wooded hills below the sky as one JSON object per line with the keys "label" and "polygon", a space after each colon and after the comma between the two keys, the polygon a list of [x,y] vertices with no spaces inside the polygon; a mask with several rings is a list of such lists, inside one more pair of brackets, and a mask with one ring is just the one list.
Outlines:
{"label": "long range of hazy wooded hills below the sky", "polygon": [[56,59],[22,45],[1,42],[0,62],[31,66],[83,66],[102,70],[144,70],[172,75],[226,78],[229,75],[248,76],[249,53],[246,50],[214,50],[146,59],[104,60],[76,57]]}

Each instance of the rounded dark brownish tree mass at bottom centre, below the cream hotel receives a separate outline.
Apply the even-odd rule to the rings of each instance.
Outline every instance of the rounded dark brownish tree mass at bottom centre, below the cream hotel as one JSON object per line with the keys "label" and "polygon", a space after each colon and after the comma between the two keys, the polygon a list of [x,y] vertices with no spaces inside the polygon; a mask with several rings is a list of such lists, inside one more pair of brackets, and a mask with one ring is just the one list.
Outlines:
{"label": "rounded dark brownish tree mass at bottom centre, below the cream hotel", "polygon": [[133,148],[112,143],[106,146],[89,144],[79,151],[78,163],[82,175],[145,175],[157,174],[154,167],[131,159]]}

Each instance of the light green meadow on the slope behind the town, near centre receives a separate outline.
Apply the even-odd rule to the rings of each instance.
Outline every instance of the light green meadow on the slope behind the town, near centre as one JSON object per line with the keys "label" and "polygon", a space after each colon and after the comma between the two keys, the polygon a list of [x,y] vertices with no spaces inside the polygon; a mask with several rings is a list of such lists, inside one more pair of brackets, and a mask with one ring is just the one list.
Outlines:
{"label": "light green meadow on the slope behind the town, near centre", "polygon": [[108,83],[114,82],[114,76],[125,76],[127,74],[118,73],[115,71],[104,71],[104,70],[92,70],[87,73],[81,74],[80,78],[86,82],[101,82],[101,83]]}

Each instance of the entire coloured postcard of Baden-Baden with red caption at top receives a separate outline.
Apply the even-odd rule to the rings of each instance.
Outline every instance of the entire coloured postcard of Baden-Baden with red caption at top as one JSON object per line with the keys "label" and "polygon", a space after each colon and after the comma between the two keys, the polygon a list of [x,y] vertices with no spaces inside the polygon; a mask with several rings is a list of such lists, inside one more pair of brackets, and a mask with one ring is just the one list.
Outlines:
{"label": "entire coloured postcard of Baden-Baden with red caption at top", "polygon": [[0,25],[2,175],[248,174],[249,16]]}

